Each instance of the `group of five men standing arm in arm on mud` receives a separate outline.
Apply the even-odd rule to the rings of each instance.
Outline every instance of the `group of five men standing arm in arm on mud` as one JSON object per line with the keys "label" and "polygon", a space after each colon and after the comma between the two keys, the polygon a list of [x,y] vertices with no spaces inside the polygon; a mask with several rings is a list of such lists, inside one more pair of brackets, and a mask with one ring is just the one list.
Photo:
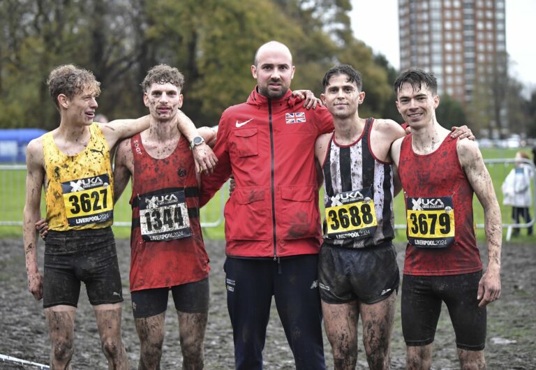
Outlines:
{"label": "group of five men standing arm in arm on mud", "polygon": [[[50,93],[61,123],[28,147],[24,207],[29,289],[36,299],[44,297],[52,368],[70,367],[80,281],[110,369],[128,368],[110,225],[113,202],[131,177],[130,283],[139,369],[160,367],[169,290],[183,367],[204,367],[209,258],[199,209],[232,175],[224,269],[236,369],[262,369],[272,296],[297,369],[325,369],[322,316],[335,369],[355,368],[359,316],[369,367],[389,368],[399,288],[393,198],[401,186],[409,239],[402,286],[408,369],[431,367],[442,302],[462,367],[483,369],[485,306],[500,295],[500,212],[477,146],[457,138],[470,132],[451,134],[435,119],[435,77],[410,70],[396,80],[396,105],[411,128],[405,135],[394,121],[359,117],[365,92],[350,66],[326,73],[324,106],[315,109],[308,109],[315,105],[310,95],[301,103],[296,95],[304,92],[290,91],[295,66],[285,45],[262,45],[251,73],[257,86],[246,103],[223,112],[216,135],[211,128],[196,130],[179,110],[184,78],[176,68],[155,66],[142,82],[149,117],[110,124],[93,123],[99,86],[91,73],[74,66],[52,71]],[[110,149],[118,142],[112,173]],[[43,186],[44,278],[34,232]],[[486,218],[484,274],[473,192]]]}

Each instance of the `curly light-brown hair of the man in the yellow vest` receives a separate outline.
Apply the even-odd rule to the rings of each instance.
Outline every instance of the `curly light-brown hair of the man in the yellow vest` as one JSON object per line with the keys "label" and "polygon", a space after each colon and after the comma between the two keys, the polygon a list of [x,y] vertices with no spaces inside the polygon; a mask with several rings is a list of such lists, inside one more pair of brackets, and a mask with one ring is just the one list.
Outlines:
{"label": "curly light-brown hair of the man in the yellow vest", "polygon": [[58,96],[64,94],[72,99],[76,94],[80,94],[84,89],[92,89],[95,96],[101,94],[101,82],[98,82],[91,71],[65,64],[54,68],[47,78],[48,92],[52,101],[59,110]]}

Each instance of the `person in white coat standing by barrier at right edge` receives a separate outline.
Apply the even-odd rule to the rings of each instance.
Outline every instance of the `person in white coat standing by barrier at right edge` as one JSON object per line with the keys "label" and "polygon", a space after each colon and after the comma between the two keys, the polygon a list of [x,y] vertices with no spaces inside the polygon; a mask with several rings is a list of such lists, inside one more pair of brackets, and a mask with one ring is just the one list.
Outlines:
{"label": "person in white coat standing by barrier at right edge", "polygon": [[[534,177],[533,168],[523,159],[530,159],[528,154],[518,151],[516,153],[516,166],[507,175],[505,182],[502,183],[503,205],[512,206],[512,220],[519,223],[521,216],[526,223],[532,219],[530,217],[529,207],[532,204],[532,195],[530,193],[530,179]],[[519,228],[514,228],[513,235],[519,235]],[[533,235],[533,226],[528,227],[528,235]]]}

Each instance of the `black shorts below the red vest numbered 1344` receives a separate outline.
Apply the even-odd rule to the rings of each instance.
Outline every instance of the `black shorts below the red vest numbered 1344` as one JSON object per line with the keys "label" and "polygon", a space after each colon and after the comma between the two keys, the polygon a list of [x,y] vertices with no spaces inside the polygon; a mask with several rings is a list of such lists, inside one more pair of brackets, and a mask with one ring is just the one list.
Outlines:
{"label": "black shorts below the red vest numbered 1344", "polygon": [[151,288],[131,292],[132,312],[135,318],[148,318],[168,309],[171,290],[175,309],[186,313],[209,311],[209,278],[171,288]]}

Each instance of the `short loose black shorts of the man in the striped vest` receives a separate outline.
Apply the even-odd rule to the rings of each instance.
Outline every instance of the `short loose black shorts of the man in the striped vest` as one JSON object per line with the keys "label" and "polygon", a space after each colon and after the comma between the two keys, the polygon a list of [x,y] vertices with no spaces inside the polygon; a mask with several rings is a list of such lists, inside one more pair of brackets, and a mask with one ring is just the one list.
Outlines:
{"label": "short loose black shorts of the man in the striped vest", "polygon": [[392,243],[360,249],[322,244],[318,286],[322,301],[373,304],[399,290],[399,265]]}

